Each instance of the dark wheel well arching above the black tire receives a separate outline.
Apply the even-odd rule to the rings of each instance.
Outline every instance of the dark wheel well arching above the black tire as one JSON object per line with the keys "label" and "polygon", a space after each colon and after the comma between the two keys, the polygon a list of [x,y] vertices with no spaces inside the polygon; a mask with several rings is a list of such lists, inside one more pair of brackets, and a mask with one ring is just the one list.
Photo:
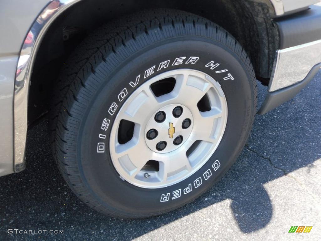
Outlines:
{"label": "dark wheel well arching above the black tire", "polygon": [[[267,1],[268,2],[268,1]],[[271,6],[247,0],[208,1],[80,1],[58,16],[45,34],[35,59],[28,103],[28,122],[48,111],[52,85],[74,47],[89,32],[119,16],[145,9],[179,9],[221,25],[247,51],[259,80],[268,83],[278,45],[278,30],[270,18]]]}

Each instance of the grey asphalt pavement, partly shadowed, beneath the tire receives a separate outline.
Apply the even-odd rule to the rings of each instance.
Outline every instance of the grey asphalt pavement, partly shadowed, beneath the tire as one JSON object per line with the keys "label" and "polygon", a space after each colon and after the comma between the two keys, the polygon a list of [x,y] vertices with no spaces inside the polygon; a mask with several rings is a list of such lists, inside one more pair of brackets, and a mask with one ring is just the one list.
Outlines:
{"label": "grey asphalt pavement, partly shadowed, beneath the tire", "polygon": [[[266,87],[258,85],[262,103]],[[0,177],[0,240],[321,238],[321,71],[291,101],[256,115],[246,147],[219,183],[159,217],[108,218],[83,204],[53,160],[47,123],[43,118],[29,129],[26,170]],[[288,233],[291,226],[313,228]],[[63,234],[15,234],[14,228]]]}

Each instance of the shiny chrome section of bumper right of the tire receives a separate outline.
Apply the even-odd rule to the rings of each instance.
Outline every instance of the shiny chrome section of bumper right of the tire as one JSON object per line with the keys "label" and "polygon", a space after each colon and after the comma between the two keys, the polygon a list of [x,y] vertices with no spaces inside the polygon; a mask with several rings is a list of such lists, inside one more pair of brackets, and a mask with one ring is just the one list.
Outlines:
{"label": "shiny chrome section of bumper right of the tire", "polygon": [[318,63],[321,63],[321,40],[278,50],[268,91],[299,83]]}

